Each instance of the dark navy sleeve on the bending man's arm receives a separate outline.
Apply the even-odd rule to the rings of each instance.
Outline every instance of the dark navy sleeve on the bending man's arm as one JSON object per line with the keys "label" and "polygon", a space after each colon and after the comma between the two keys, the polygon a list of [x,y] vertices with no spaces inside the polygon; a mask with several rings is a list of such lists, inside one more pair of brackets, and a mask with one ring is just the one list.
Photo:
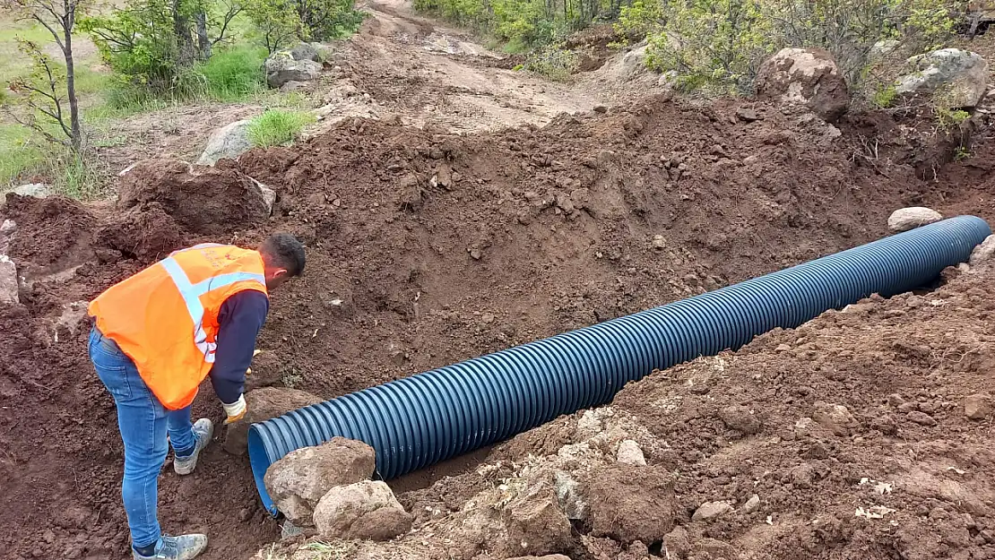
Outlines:
{"label": "dark navy sleeve on the bending man's arm", "polygon": [[262,291],[243,289],[225,299],[218,312],[218,343],[211,368],[211,384],[222,403],[239,400],[252,365],[256,337],[270,312],[270,298]]}

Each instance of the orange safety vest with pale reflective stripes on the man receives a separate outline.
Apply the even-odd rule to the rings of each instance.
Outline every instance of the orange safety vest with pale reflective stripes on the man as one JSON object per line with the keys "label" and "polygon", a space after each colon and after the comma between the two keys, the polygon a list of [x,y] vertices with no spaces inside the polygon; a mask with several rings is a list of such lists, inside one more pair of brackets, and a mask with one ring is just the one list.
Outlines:
{"label": "orange safety vest with pale reflective stripes on the man", "polygon": [[211,372],[222,303],[243,289],[268,293],[259,252],[197,245],[110,286],[90,303],[90,315],[159,402],[179,410]]}

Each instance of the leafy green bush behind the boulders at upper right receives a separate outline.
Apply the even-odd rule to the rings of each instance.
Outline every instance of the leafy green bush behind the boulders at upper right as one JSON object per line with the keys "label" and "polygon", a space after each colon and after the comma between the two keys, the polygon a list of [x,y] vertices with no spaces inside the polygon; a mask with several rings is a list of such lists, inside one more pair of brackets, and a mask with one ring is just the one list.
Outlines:
{"label": "leafy green bush behind the boulders at upper right", "polygon": [[[934,49],[962,13],[960,0],[664,1],[659,27],[647,38],[647,64],[674,72],[685,89],[748,93],[760,64],[777,50],[818,47],[833,55],[852,91],[876,103],[890,101],[876,96],[887,97],[897,72],[876,45],[894,42],[900,60]],[[626,25],[652,29],[648,10],[633,10],[623,10]]]}

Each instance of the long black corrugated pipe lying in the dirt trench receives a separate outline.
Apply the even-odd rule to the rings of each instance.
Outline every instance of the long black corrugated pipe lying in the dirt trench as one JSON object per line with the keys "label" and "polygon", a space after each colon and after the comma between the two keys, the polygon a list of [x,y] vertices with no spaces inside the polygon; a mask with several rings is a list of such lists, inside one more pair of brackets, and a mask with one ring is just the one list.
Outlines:
{"label": "long black corrugated pipe lying in the dirt trench", "polygon": [[305,407],[249,429],[249,457],[267,509],[266,469],[335,436],[376,450],[384,479],[505,440],[609,402],[629,381],[736,349],[872,293],[936,280],[991,234],[962,216],[695,297],[536,340]]}

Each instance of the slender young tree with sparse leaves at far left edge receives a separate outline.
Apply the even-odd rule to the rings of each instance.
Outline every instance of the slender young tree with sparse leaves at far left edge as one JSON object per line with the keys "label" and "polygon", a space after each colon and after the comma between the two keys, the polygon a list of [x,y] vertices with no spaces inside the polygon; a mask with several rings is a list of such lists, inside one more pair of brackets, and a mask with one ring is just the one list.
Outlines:
{"label": "slender young tree with sparse leaves at far left edge", "polygon": [[[8,107],[8,112],[18,122],[41,132],[49,140],[63,142],[49,132],[45,123],[57,125],[67,138],[65,143],[79,151],[83,145],[83,129],[80,125],[80,101],[76,94],[73,31],[77,15],[84,12],[82,1],[3,0],[3,5],[48,30],[65,63],[62,67],[52,60],[37,43],[19,40],[18,46],[31,59],[32,69],[28,76],[11,82],[9,88],[15,93],[22,93],[21,98],[30,110],[29,114],[20,115]],[[68,115],[64,103],[68,105]]]}

